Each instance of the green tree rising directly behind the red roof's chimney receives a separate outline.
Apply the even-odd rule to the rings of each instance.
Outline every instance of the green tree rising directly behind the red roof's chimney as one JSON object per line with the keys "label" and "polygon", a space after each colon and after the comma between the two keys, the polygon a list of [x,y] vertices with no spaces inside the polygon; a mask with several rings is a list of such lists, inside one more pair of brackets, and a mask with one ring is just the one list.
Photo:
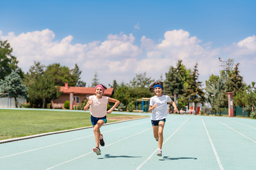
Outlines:
{"label": "green tree rising directly behind the red roof's chimney", "polygon": [[50,75],[52,81],[57,86],[64,86],[65,83],[68,83],[69,86],[75,86],[79,79],[79,68],[76,65],[74,69],[69,69],[66,66],[60,66],[59,63],[54,63],[47,66],[45,73]]}

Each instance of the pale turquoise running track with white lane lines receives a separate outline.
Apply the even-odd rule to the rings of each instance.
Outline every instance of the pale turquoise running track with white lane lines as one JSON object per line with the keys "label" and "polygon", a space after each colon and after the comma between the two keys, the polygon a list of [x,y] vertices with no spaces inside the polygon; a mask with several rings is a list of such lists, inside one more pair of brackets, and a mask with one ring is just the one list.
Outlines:
{"label": "pale turquoise running track with white lane lines", "polygon": [[168,115],[162,157],[150,118],[0,144],[0,169],[256,169],[256,120]]}

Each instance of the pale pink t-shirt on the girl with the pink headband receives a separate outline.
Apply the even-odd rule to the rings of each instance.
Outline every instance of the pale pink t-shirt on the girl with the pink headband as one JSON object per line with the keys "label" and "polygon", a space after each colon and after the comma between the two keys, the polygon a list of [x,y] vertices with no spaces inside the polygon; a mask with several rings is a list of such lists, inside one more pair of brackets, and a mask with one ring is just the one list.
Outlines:
{"label": "pale pink t-shirt on the girl with the pink headband", "polygon": [[93,101],[93,103],[91,104],[91,114],[94,117],[106,116],[109,97],[102,96],[102,98],[99,99],[95,95],[93,95],[89,96],[89,99]]}

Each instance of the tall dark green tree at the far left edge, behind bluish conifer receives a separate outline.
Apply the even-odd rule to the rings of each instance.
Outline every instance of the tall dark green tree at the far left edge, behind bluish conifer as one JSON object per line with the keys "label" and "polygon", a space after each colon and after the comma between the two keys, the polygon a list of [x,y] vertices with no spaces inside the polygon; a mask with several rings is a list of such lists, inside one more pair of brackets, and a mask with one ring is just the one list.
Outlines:
{"label": "tall dark green tree at the far left edge, behind bluish conifer", "polygon": [[7,41],[0,41],[0,79],[4,79],[15,71],[23,78],[24,73],[18,67],[16,57],[12,55],[13,49]]}

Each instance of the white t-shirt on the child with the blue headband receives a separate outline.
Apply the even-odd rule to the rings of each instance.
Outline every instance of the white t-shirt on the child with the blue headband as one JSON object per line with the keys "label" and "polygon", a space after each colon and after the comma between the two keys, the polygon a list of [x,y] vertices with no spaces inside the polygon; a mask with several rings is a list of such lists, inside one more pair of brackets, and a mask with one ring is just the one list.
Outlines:
{"label": "white t-shirt on the child with the blue headband", "polygon": [[156,108],[152,110],[152,120],[161,120],[167,117],[167,102],[171,102],[167,95],[162,95],[161,97],[153,96],[150,98],[149,105],[153,106],[157,104]]}

